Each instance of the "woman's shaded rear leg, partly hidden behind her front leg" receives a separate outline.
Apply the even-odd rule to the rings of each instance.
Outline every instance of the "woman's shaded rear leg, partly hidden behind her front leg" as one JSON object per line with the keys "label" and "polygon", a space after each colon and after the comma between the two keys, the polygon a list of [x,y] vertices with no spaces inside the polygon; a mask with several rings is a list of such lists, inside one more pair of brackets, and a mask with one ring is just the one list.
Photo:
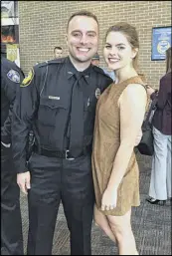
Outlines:
{"label": "woman's shaded rear leg, partly hidden behind her front leg", "polygon": [[94,205],[93,217],[95,225],[99,226],[104,231],[104,233],[115,243],[116,239],[108,225],[107,218],[97,209],[96,205]]}

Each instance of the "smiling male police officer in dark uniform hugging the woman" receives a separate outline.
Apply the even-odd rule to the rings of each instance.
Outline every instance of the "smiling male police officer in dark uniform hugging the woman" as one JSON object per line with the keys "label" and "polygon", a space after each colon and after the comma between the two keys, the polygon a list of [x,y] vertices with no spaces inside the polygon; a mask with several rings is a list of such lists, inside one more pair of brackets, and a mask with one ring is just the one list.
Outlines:
{"label": "smiling male police officer in dark uniform hugging the woman", "polygon": [[[112,83],[90,64],[97,51],[98,23],[89,12],[71,16],[69,56],[33,68],[14,106],[13,150],[18,184],[28,193],[29,255],[50,255],[62,200],[71,234],[71,254],[90,255],[94,193],[91,143],[95,106]],[[33,125],[35,149],[26,164]]]}

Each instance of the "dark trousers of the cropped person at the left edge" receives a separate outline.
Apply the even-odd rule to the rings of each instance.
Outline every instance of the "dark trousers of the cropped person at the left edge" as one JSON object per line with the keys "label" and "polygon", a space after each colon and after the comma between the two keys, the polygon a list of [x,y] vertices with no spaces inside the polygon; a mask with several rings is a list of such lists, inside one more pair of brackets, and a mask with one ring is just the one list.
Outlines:
{"label": "dark trousers of the cropped person at the left edge", "polygon": [[11,148],[1,149],[1,255],[24,255],[20,190]]}

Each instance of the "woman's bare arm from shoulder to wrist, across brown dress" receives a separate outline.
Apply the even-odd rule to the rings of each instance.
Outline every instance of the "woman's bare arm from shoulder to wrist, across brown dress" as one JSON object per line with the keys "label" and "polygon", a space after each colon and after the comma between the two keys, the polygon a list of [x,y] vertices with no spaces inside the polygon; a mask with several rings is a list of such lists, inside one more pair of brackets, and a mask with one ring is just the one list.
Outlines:
{"label": "woman's bare arm from shoulder to wrist, across brown dress", "polygon": [[146,104],[146,91],[137,84],[129,85],[119,99],[120,146],[114,159],[107,188],[117,189],[125,174],[136,137],[144,120]]}

